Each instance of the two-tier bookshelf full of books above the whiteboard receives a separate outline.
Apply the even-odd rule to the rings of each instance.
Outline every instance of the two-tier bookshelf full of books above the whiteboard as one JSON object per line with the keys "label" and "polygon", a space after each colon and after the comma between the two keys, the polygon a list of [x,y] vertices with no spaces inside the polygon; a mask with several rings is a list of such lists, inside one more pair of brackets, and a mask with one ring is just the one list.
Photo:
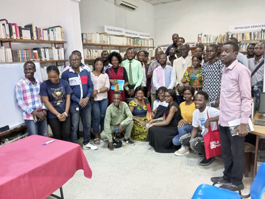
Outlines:
{"label": "two-tier bookshelf full of books above the whiteboard", "polygon": [[[0,19],[0,21],[5,21],[6,22],[6,25],[8,25],[8,24],[10,24],[10,23],[8,23],[8,21],[6,20],[6,19]],[[2,25],[2,24],[0,24],[0,25]],[[34,24],[33,24],[34,25]],[[34,27],[34,26],[33,26]],[[3,27],[0,27],[0,31],[1,31],[1,28],[2,28],[2,30],[3,30],[3,28],[4,28],[4,26]],[[21,27],[20,27],[21,28]],[[51,34],[52,34],[52,37],[51,38],[53,38],[54,37],[54,40],[42,40],[42,38],[45,38],[45,35],[44,35],[44,31],[47,31],[47,32],[49,32],[49,29],[55,29],[55,28],[59,28],[59,30],[61,30],[60,32],[58,31],[57,33],[56,33],[56,31],[52,31],[52,33],[50,33],[49,35],[51,36]],[[26,28],[23,28],[23,29],[26,29]],[[39,30],[38,30],[39,29]],[[10,29],[5,29],[5,33],[6,33],[6,35],[8,34],[8,31],[7,30],[9,30],[10,31]],[[36,30],[36,31],[35,31]],[[43,30],[43,31],[42,31]],[[31,33],[33,32],[33,29],[29,29],[29,32],[31,31]],[[10,52],[12,52],[12,54],[9,54],[8,56],[10,56],[11,58],[12,58],[12,60],[9,60],[9,62],[1,62],[1,63],[10,63],[10,62],[17,62],[17,60],[15,60],[15,54],[17,53],[16,51],[12,51],[12,43],[29,43],[29,44],[53,44],[54,45],[54,47],[52,47],[52,48],[54,48],[55,50],[54,50],[54,52],[55,52],[55,54],[53,53],[53,51],[51,51],[52,52],[52,57],[51,58],[48,58],[48,56],[49,55],[47,55],[47,57],[46,57],[46,53],[48,53],[48,51],[49,50],[43,50],[43,48],[45,49],[45,47],[43,47],[43,48],[38,48],[38,49],[42,49],[43,51],[38,51],[37,52],[37,54],[38,54],[38,56],[37,56],[37,58],[38,59],[46,59],[46,60],[38,60],[38,59],[36,59],[34,56],[32,57],[32,55],[34,54],[34,53],[32,53],[31,51],[32,51],[32,49],[24,49],[24,50],[20,50],[21,51],[21,54],[20,55],[17,55],[18,57],[20,57],[21,56],[21,60],[23,60],[22,62],[25,62],[26,60],[29,60],[29,59],[34,59],[33,61],[39,61],[40,63],[49,63],[49,62],[53,62],[53,63],[56,63],[56,66],[58,66],[58,63],[59,62],[63,62],[64,63],[64,67],[66,67],[66,62],[68,61],[68,60],[66,60],[66,59],[64,59],[64,44],[66,44],[67,43],[67,41],[55,41],[56,40],[56,37],[59,35],[60,37],[59,37],[59,40],[64,40],[64,34],[63,34],[63,29],[62,29],[62,27],[61,26],[53,26],[53,27],[49,27],[49,28],[45,28],[45,29],[41,29],[41,28],[37,28],[37,27],[35,27],[34,28],[34,31],[35,31],[35,34],[36,35],[34,35],[34,37],[36,36],[36,39],[21,39],[21,38],[15,38],[15,37],[13,37],[13,38],[11,38],[11,34],[9,35],[9,37],[10,38],[0,38],[0,44],[1,44],[1,47],[3,46],[3,43],[7,43],[8,42],[8,44],[9,44],[9,50],[10,50]],[[14,30],[14,28],[13,28],[13,24],[12,24],[12,31],[11,32],[9,32],[9,33],[15,33],[16,32],[16,37],[20,37],[20,34],[21,34],[21,37],[22,37],[22,33],[20,32],[20,30],[19,30],[19,26],[17,26],[16,28],[15,28],[15,30]],[[2,32],[3,33],[3,32]],[[13,33],[13,34],[14,34]],[[56,36],[56,34],[57,34],[57,36],[55,37],[54,35]],[[48,33],[47,33],[47,35],[48,35]],[[3,35],[2,34],[2,37],[4,37],[5,36],[5,34]],[[24,33],[23,33],[23,36],[24,36]],[[43,36],[43,37],[42,37]],[[7,37],[7,36],[6,36]],[[38,38],[37,38],[38,37]],[[32,37],[33,38],[33,37]],[[61,45],[61,47],[59,47],[59,49],[56,49],[56,47],[58,48],[58,46],[56,46],[56,45]],[[33,50],[34,50],[34,48],[33,48]],[[13,52],[15,52],[14,54],[13,54]],[[4,53],[5,53],[5,51],[4,51]],[[19,52],[20,53],[20,52]],[[27,54],[26,54],[27,53]],[[42,55],[40,55],[40,54],[42,53]],[[50,54],[50,52],[49,52],[49,54]],[[57,54],[57,55],[56,55]],[[60,55],[61,56],[60,56]],[[43,55],[44,55],[44,57],[43,57]],[[5,56],[5,55],[4,55]],[[15,57],[14,57],[15,56]],[[59,60],[54,60],[54,58],[57,56],[58,58],[59,58]],[[23,59],[22,59],[22,57],[23,57]],[[63,58],[63,59],[60,59],[60,58]],[[51,59],[51,60],[47,60],[47,59]],[[19,60],[19,59],[18,59]]]}

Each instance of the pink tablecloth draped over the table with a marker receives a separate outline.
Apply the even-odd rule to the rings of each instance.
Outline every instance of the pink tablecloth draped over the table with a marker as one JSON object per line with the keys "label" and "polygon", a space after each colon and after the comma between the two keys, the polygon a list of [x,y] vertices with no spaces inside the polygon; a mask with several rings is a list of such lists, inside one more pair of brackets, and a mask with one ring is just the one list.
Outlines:
{"label": "pink tablecloth draped over the table with a marker", "polygon": [[48,197],[79,169],[92,171],[78,144],[32,135],[0,147],[0,198]]}

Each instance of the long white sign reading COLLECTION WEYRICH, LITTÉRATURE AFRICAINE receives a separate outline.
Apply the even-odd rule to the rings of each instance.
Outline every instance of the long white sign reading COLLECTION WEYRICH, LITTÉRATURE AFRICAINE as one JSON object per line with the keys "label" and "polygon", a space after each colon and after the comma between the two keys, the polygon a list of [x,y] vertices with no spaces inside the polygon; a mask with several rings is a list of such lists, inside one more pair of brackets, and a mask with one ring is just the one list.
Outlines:
{"label": "long white sign reading COLLECTION WEYRICH, LITT\u00c9RATURE AFRICAINE", "polygon": [[104,25],[105,32],[109,34],[116,34],[116,35],[125,35],[127,37],[140,37],[140,38],[151,38],[150,33],[145,32],[138,32],[133,30],[128,30],[124,28],[114,27],[110,25]]}

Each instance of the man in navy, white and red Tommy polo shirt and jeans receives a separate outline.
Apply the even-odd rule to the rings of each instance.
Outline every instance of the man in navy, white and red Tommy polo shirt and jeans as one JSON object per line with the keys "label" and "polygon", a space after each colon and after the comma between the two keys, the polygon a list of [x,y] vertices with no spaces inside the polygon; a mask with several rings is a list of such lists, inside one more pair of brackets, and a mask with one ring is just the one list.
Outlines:
{"label": "man in navy, white and red Tommy polo shirt and jeans", "polygon": [[77,129],[81,116],[84,127],[83,149],[96,150],[98,147],[89,142],[91,136],[91,104],[89,98],[92,95],[94,85],[90,73],[80,67],[81,60],[78,55],[71,54],[69,62],[71,67],[63,72],[62,79],[67,80],[73,90],[69,110],[71,119],[70,140],[77,143]]}

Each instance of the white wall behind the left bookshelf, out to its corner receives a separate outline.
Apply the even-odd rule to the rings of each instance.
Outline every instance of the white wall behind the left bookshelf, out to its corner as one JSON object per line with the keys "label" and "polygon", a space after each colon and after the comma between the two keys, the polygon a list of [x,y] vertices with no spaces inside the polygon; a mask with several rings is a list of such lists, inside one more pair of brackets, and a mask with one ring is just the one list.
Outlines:
{"label": "white wall behind the left bookshelf, out to its corner", "polygon": [[[73,50],[82,50],[79,3],[80,0],[9,0],[1,1],[0,19],[7,19],[9,23],[17,23],[24,27],[25,24],[34,23],[40,28],[61,25],[64,29],[65,59],[68,59]],[[12,6],[10,6],[12,5]],[[3,23],[3,22],[1,22]],[[38,47],[50,44],[35,44]],[[24,49],[32,44],[12,42],[12,49]],[[60,45],[58,45],[60,46]]]}

